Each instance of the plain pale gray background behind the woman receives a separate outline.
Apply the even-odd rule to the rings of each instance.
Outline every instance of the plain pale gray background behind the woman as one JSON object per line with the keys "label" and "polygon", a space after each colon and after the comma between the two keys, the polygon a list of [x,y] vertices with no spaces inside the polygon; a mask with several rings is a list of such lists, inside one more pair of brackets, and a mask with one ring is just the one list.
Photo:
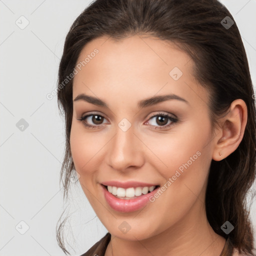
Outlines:
{"label": "plain pale gray background behind the woman", "polygon": [[[255,86],[256,0],[221,2],[238,25]],[[58,179],[64,122],[57,97],[46,98],[56,87],[65,35],[88,3],[0,0],[0,255],[64,255],[55,226],[66,206],[71,214],[66,230],[75,250],[70,250],[72,255],[85,252],[107,231],[79,184],[72,183],[70,202],[62,202]],[[19,123],[23,131],[16,126],[21,118],[28,124]],[[256,232],[256,201],[251,218]]]}

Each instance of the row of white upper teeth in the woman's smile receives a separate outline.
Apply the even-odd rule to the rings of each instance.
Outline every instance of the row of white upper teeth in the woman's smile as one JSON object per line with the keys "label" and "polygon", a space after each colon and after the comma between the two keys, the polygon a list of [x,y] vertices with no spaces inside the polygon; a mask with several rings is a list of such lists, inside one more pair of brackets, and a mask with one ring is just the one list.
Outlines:
{"label": "row of white upper teeth in the woman's smile", "polygon": [[153,191],[155,186],[138,186],[138,187],[129,187],[129,188],[123,188],[123,187],[116,187],[116,186],[107,186],[107,190],[109,193],[116,195],[117,197],[134,197],[134,196],[140,196],[141,194],[147,194],[148,190],[149,192]]}

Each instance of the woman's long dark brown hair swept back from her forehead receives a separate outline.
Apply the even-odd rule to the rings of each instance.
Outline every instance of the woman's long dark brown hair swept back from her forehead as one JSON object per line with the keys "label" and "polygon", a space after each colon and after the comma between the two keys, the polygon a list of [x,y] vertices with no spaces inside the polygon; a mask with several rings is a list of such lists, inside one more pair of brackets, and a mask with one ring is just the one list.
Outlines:
{"label": "woman's long dark brown hair swept back from her forehead", "polygon": [[[230,27],[226,16],[233,20]],[[246,194],[255,179],[255,102],[248,61],[237,25],[224,5],[217,0],[95,0],[71,25],[65,38],[59,64],[58,84],[72,73],[78,55],[89,41],[107,35],[116,40],[135,34],[148,34],[169,40],[194,61],[194,77],[211,97],[212,128],[217,119],[238,98],[248,111],[243,138],[237,149],[221,161],[212,159],[206,189],[207,219],[213,230],[228,239],[239,253],[252,254],[253,231]],[[74,164],[70,152],[72,120],[72,81],[58,87],[58,107],[65,117],[65,155],[60,180],[67,196]],[[221,225],[228,220],[234,229],[225,234]],[[62,221],[57,241],[64,247]]]}

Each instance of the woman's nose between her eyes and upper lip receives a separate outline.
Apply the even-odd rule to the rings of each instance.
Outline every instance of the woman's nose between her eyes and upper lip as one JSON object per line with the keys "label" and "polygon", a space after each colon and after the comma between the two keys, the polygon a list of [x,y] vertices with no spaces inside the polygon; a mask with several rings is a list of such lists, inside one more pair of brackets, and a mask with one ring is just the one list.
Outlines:
{"label": "woman's nose between her eyes and upper lip", "polygon": [[107,163],[118,171],[140,168],[144,163],[143,143],[134,134],[133,126],[123,131],[117,126],[116,133],[107,147]]}

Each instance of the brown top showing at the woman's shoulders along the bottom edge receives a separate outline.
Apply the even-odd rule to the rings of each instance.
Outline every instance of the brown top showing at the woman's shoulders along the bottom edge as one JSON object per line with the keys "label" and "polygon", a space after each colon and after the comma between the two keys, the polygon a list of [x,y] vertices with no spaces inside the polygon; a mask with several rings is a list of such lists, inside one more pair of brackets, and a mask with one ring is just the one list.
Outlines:
{"label": "brown top showing at the woman's shoulders along the bottom edge", "polygon": [[[110,241],[111,234],[107,232],[100,240],[92,245],[85,253],[80,256],[104,256],[106,247]],[[226,239],[225,245],[219,256],[243,256],[230,243],[229,239]]]}

